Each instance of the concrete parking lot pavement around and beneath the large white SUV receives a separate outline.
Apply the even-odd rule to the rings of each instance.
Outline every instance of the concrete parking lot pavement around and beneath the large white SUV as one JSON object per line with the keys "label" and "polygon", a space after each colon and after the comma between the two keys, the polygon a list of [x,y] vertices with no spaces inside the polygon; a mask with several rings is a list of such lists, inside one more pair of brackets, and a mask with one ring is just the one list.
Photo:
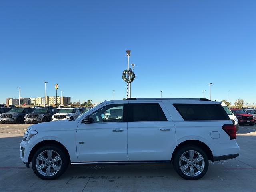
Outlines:
{"label": "concrete parking lot pavement around and beneath the large white SUV", "polygon": [[240,156],[210,162],[200,180],[180,178],[172,165],[71,166],[58,180],[39,179],[19,158],[29,125],[0,124],[0,191],[255,191],[256,126],[240,126]]}

